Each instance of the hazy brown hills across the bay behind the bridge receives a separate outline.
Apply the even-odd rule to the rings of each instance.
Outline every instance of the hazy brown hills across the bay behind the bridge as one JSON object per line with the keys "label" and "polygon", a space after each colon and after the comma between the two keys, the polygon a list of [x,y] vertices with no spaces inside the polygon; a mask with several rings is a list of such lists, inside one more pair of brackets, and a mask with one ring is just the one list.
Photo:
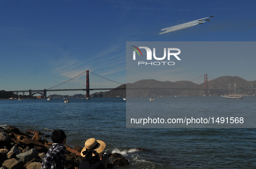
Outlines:
{"label": "hazy brown hills across the bay behind the bridge", "polygon": [[[236,81],[237,88],[239,88],[243,94],[253,95],[256,88],[256,81],[246,81],[238,76],[221,76],[214,80],[208,81],[208,89],[220,89],[208,90],[208,94],[212,96],[220,96],[225,94],[229,84],[234,85]],[[126,88],[127,87],[127,88]],[[154,79],[139,80],[134,83],[127,83],[119,86],[118,88],[126,88],[127,97],[158,97],[158,96],[203,96],[204,90],[192,90],[192,89],[204,89],[204,83],[195,84],[191,81],[157,81]],[[90,97],[123,97],[125,94],[124,89],[114,89],[106,92],[97,92],[91,94]],[[131,90],[131,88],[135,88]],[[150,89],[155,88],[155,89]],[[175,90],[169,88],[176,88]],[[177,88],[179,88],[177,90]],[[185,89],[184,89],[185,88]],[[256,94],[256,93],[255,93]],[[58,96],[58,95],[57,95]],[[67,96],[65,96],[67,97]],[[68,96],[70,98],[82,98],[86,97],[82,94],[76,94],[74,96]],[[54,98],[54,97],[53,97]],[[56,97],[63,98],[63,97]]]}

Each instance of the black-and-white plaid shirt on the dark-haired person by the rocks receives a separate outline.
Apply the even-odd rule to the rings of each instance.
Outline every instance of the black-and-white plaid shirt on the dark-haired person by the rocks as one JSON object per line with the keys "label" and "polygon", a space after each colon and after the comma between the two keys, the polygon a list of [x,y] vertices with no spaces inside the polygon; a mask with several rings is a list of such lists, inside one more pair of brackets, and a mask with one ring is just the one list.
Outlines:
{"label": "black-and-white plaid shirt on the dark-haired person by the rocks", "polygon": [[52,144],[42,162],[41,169],[64,169],[66,147],[62,144]]}

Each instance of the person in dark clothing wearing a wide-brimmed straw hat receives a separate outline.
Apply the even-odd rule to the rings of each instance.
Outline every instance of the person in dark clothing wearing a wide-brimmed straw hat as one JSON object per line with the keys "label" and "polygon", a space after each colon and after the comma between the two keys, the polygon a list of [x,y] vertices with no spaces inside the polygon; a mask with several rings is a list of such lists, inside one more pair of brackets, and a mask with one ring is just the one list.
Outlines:
{"label": "person in dark clothing wearing a wide-brimmed straw hat", "polygon": [[84,143],[84,148],[81,151],[81,160],[79,164],[79,169],[107,169],[107,163],[109,157],[106,159],[99,158],[99,153],[101,153],[106,147],[106,144],[101,140],[96,140],[95,138],[89,138]]}

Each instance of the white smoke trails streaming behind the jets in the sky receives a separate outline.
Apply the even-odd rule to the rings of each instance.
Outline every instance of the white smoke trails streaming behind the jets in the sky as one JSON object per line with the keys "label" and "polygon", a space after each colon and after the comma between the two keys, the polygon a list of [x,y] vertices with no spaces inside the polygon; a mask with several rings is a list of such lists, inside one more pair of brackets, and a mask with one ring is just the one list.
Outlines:
{"label": "white smoke trails streaming behind the jets in the sky", "polygon": [[209,18],[209,17],[202,18],[202,19],[197,19],[197,20],[194,20],[194,21],[191,21],[191,22],[186,22],[186,23],[171,26],[171,27],[168,27],[168,28],[162,28],[161,31],[163,31],[163,32],[160,32],[159,34],[165,34],[165,33],[169,33],[169,32],[172,32],[172,31],[178,31],[178,30],[185,29],[185,28],[188,28],[188,27],[191,27],[191,26],[194,26],[194,25],[198,25],[199,23],[201,24],[201,23],[206,22],[204,19],[207,19],[207,18]]}

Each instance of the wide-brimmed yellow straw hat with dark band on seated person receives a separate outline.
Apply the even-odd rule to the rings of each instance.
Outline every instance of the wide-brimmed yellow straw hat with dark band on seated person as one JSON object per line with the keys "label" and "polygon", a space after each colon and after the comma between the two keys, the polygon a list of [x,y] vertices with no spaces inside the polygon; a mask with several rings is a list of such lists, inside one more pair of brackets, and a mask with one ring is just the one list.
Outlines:
{"label": "wide-brimmed yellow straw hat with dark band on seated person", "polygon": [[[93,149],[97,151],[97,153],[101,153],[106,147],[106,144],[101,141],[101,140],[96,140],[95,138],[89,138],[87,141],[84,143],[84,148],[81,151],[81,156],[85,156],[83,152],[87,149]],[[96,153],[96,154],[97,154]],[[92,156],[95,156],[96,154],[92,154]]]}

